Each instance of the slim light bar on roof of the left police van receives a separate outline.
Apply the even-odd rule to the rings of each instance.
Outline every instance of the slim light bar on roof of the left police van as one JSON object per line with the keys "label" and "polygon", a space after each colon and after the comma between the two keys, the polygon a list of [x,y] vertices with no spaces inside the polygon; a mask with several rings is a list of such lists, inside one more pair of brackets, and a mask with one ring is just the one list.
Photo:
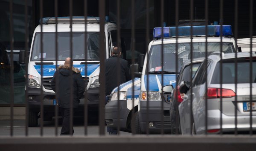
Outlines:
{"label": "slim light bar on roof of the left police van", "polygon": [[[70,17],[57,17],[58,23],[70,23]],[[85,17],[72,17],[73,23],[84,23]],[[41,20],[39,21],[41,22]],[[86,17],[86,22],[98,23],[99,17]],[[45,17],[43,18],[43,24],[55,24],[55,17]]]}

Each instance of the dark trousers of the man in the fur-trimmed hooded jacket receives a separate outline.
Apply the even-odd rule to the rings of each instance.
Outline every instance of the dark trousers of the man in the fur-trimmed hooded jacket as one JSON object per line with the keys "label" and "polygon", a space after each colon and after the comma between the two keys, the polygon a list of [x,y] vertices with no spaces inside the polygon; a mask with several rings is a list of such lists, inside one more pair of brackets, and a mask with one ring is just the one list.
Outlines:
{"label": "dark trousers of the man in the fur-trimmed hooded jacket", "polygon": [[[62,128],[61,135],[70,135],[70,108],[59,108],[62,116]],[[73,109],[74,113],[74,109]],[[74,134],[74,129],[72,127],[71,134]]]}

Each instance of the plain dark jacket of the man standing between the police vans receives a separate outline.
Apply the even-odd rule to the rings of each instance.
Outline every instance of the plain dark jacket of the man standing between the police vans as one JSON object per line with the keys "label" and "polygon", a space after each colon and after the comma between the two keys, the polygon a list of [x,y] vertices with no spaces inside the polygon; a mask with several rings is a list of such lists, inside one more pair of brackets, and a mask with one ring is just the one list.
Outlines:
{"label": "plain dark jacket of the man standing between the police vans", "polygon": [[[120,77],[120,84],[130,80],[129,63],[125,59],[120,58],[120,73],[117,73],[118,57],[116,55],[111,56],[105,60],[105,92],[106,95],[110,95],[111,91],[118,86],[118,76]],[[104,74],[104,73],[100,73]],[[100,79],[101,80],[101,79]],[[100,81],[99,81],[100,82]]]}

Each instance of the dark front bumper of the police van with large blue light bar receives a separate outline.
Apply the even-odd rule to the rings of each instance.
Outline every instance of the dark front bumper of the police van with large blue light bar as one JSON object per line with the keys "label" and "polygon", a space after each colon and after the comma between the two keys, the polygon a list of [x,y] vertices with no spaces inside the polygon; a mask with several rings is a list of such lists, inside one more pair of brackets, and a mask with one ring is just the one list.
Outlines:
{"label": "dark front bumper of the police van with large blue light bar", "polygon": [[[149,128],[150,133],[161,133],[162,129],[164,133],[171,132],[170,104],[163,102],[162,109],[161,103],[161,101],[149,101],[147,109],[147,101],[140,101],[139,119],[143,133],[146,132],[146,127]],[[153,126],[148,126],[149,123],[153,123]]]}

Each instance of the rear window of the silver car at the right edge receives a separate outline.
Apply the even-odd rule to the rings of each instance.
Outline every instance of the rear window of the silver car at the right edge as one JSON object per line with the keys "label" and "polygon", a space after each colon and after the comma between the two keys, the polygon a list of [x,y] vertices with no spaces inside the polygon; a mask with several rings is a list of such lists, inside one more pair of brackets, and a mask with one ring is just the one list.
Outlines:
{"label": "rear window of the silver car at the right edge", "polygon": [[[222,83],[233,84],[235,83],[235,63],[234,62],[223,62],[222,63]],[[220,84],[220,63],[215,67],[212,84]],[[252,62],[252,82],[256,83],[256,62]],[[250,83],[250,62],[239,61],[237,63],[237,83]]]}

